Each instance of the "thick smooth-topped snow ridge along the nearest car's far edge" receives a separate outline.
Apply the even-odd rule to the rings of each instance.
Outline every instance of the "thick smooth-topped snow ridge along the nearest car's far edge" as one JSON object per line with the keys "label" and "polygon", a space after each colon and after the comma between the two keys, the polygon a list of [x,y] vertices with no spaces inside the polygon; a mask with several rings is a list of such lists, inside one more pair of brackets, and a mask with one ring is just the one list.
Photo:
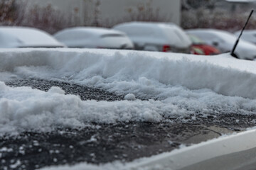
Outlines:
{"label": "thick smooth-topped snow ridge along the nearest car's far edge", "polygon": [[155,95],[155,87],[186,86],[256,98],[256,63],[225,55],[117,50],[7,50],[0,55],[1,74],[18,77],[61,79],[136,96]]}

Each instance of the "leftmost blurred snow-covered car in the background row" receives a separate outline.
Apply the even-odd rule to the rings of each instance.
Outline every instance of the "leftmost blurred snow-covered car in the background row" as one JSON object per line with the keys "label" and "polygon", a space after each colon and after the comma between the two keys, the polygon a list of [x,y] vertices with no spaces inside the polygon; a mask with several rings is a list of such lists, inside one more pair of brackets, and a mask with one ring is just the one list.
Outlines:
{"label": "leftmost blurred snow-covered car in the background row", "polygon": [[65,47],[65,45],[43,30],[0,26],[0,47]]}

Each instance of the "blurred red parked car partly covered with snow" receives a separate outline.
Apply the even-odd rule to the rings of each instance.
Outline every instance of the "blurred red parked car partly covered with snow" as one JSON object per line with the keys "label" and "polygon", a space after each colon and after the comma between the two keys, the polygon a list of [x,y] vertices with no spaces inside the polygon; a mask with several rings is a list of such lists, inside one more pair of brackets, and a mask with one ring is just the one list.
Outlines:
{"label": "blurred red parked car partly covered with snow", "polygon": [[194,55],[218,55],[220,50],[213,47],[212,45],[207,45],[201,38],[198,38],[196,35],[188,34],[188,37],[191,39],[192,47],[191,51]]}

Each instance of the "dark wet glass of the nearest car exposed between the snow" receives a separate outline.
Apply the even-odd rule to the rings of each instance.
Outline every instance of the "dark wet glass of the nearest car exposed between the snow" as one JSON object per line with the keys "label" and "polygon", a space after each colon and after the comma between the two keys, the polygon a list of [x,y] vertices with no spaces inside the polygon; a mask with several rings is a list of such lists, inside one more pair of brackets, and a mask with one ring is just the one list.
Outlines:
{"label": "dark wet glass of the nearest car exposed between the snow", "polygon": [[[82,100],[122,100],[101,89],[77,84],[46,80],[16,80],[9,86],[32,86],[47,91],[60,86],[67,94],[79,95]],[[82,129],[59,129],[54,132],[24,132],[17,137],[0,138],[0,169],[38,169],[44,166],[88,162],[100,164],[120,160],[129,162],[171,151],[182,145],[192,145],[240,132],[255,126],[256,115],[200,114],[196,121],[188,115],[184,123],[172,118],[172,123],[115,123],[92,124]],[[238,121],[239,120],[239,121]]]}

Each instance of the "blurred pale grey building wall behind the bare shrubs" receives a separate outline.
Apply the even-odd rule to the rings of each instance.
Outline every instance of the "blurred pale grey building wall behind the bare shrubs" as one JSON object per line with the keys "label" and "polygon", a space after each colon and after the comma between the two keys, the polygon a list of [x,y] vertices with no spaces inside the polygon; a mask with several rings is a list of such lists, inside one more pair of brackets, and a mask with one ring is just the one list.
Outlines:
{"label": "blurred pale grey building wall behind the bare shrubs", "polygon": [[[99,5],[95,4],[99,1]],[[152,8],[153,13],[159,11],[159,19],[180,24],[181,2],[180,0],[28,0],[33,6],[52,6],[65,13],[78,16],[80,24],[90,25],[92,22],[100,22],[101,25],[111,25],[120,21],[129,20],[134,13]],[[99,12],[97,12],[99,11]],[[95,16],[95,13],[97,15]]]}

